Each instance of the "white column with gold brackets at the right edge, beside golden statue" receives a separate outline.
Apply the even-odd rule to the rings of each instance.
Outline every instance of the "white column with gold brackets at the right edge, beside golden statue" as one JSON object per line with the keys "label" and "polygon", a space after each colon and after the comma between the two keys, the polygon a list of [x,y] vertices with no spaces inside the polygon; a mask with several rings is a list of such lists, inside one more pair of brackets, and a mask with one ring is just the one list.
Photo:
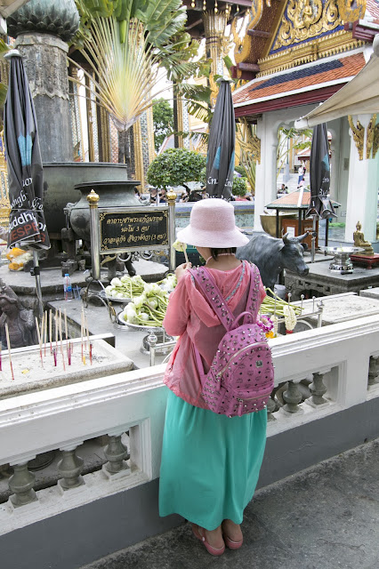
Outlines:
{"label": "white column with gold brackets at the right edge, beside golden statue", "polygon": [[349,185],[346,208],[345,241],[353,242],[353,233],[357,222],[360,221],[362,231],[367,241],[375,241],[376,237],[376,210],[378,194],[378,165],[379,153],[375,158],[366,158],[367,124],[370,115],[353,116],[353,123],[365,127],[365,140],[363,148],[363,160],[359,160],[358,149],[352,138],[349,167]]}

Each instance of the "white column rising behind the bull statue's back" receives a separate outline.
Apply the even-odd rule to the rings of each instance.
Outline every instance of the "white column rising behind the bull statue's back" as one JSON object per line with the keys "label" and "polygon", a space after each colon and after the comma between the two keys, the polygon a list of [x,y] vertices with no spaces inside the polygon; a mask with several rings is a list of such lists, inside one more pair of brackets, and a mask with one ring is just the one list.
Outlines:
{"label": "white column rising behind the bull statue's back", "polygon": [[270,120],[270,113],[258,120],[257,136],[261,139],[261,164],[256,165],[254,230],[262,231],[261,213],[277,197],[278,119]]}

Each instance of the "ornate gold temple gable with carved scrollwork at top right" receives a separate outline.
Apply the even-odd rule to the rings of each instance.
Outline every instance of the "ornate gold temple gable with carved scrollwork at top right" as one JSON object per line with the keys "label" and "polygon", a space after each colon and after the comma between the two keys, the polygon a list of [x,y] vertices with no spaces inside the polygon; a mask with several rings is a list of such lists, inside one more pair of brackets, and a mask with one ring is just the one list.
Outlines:
{"label": "ornate gold temple gable with carved scrollwork at top right", "polygon": [[[363,19],[366,7],[367,0],[288,0],[283,5],[253,0],[244,37],[237,31],[238,19],[231,22],[236,64],[255,64],[252,73],[262,76],[355,49],[363,42],[344,24]],[[258,36],[271,40],[257,53]]]}

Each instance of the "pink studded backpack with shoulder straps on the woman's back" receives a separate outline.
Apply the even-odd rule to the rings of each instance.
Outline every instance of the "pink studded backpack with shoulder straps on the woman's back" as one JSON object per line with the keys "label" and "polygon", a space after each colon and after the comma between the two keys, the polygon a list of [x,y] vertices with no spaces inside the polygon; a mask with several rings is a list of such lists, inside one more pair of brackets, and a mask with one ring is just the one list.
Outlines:
{"label": "pink studded backpack with shoulder straps on the woman's back", "polygon": [[206,405],[214,413],[229,417],[261,411],[267,406],[274,388],[274,366],[266,336],[256,324],[258,268],[252,266],[246,311],[238,317],[231,313],[213,276],[205,267],[192,268],[189,272],[226,328],[208,373],[204,372],[200,354],[194,347]]}

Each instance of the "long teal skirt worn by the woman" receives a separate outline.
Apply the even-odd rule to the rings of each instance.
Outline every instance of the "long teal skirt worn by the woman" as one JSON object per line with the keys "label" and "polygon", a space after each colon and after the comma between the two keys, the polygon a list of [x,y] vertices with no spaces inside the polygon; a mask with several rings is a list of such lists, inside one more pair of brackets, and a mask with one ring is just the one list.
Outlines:
{"label": "long teal skirt worn by the woman", "polygon": [[227,417],[194,407],[170,390],[165,414],[159,515],[180,514],[214,530],[242,522],[266,444],[267,411]]}

